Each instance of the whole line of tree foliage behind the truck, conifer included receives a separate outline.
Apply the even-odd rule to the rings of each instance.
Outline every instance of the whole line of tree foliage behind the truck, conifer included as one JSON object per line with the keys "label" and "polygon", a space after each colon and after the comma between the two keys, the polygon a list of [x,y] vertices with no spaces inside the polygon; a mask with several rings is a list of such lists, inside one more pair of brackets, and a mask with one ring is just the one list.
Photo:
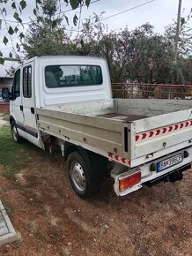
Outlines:
{"label": "whole line of tree foliage behind the truck, conifer included", "polygon": [[[94,14],[85,19],[76,40],[65,33],[59,22],[53,28],[54,19],[48,15],[41,24],[34,20],[26,34],[27,56],[39,55],[84,55],[102,56],[107,59],[113,82],[145,82],[192,84],[191,51],[179,51],[174,63],[172,34],[155,34],[149,23],[129,31],[108,32],[107,26]],[[49,20],[49,21],[48,21]],[[50,22],[50,24],[48,24]],[[169,26],[169,31],[174,25]],[[182,48],[185,49],[185,35]]]}

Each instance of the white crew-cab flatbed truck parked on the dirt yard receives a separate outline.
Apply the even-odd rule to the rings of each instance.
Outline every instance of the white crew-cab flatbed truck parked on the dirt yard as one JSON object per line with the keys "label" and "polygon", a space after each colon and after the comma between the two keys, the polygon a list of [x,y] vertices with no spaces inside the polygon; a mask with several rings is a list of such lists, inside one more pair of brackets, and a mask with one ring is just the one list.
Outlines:
{"label": "white crew-cab flatbed truck parked on the dirt yard", "polygon": [[50,151],[59,145],[81,198],[97,192],[108,162],[118,196],[181,180],[191,168],[192,101],[112,99],[100,57],[29,59],[3,96],[10,100],[12,139]]}

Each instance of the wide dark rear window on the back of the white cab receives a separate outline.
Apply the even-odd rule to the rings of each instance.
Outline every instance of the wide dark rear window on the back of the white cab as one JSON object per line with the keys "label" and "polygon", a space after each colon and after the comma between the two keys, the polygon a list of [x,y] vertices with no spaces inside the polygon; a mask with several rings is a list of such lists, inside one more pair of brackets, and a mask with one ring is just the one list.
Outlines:
{"label": "wide dark rear window on the back of the white cab", "polygon": [[48,88],[100,86],[103,82],[98,65],[48,65],[45,83]]}

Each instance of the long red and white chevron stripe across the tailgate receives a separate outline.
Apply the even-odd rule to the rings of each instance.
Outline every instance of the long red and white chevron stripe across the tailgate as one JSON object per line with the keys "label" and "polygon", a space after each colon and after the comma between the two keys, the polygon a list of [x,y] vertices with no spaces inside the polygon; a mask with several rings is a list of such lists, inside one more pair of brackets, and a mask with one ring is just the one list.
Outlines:
{"label": "long red and white chevron stripe across the tailgate", "polygon": [[147,132],[137,133],[136,142],[143,141],[144,139],[155,138],[162,134],[168,134],[170,132],[180,132],[181,130],[187,130],[188,128],[192,128],[192,120],[188,120],[178,124],[172,124],[165,127],[160,127],[158,129],[147,131]]}

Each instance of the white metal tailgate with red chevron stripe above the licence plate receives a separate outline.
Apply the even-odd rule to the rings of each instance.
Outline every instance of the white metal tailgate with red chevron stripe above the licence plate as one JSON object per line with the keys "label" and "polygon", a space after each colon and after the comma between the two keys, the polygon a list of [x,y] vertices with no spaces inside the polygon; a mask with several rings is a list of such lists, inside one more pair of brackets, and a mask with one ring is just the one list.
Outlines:
{"label": "white metal tailgate with red chevron stripe above the licence plate", "polygon": [[132,167],[192,146],[192,109],[144,118],[129,125]]}

